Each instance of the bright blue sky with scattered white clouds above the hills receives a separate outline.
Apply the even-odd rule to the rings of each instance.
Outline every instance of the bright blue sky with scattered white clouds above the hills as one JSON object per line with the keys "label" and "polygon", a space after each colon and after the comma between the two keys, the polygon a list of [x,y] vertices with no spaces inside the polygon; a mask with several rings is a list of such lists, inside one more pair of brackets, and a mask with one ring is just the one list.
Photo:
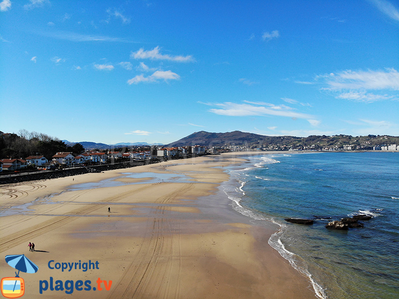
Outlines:
{"label": "bright blue sky with scattered white clouds above the hills", "polygon": [[0,0],[0,131],[399,136],[399,0]]}

